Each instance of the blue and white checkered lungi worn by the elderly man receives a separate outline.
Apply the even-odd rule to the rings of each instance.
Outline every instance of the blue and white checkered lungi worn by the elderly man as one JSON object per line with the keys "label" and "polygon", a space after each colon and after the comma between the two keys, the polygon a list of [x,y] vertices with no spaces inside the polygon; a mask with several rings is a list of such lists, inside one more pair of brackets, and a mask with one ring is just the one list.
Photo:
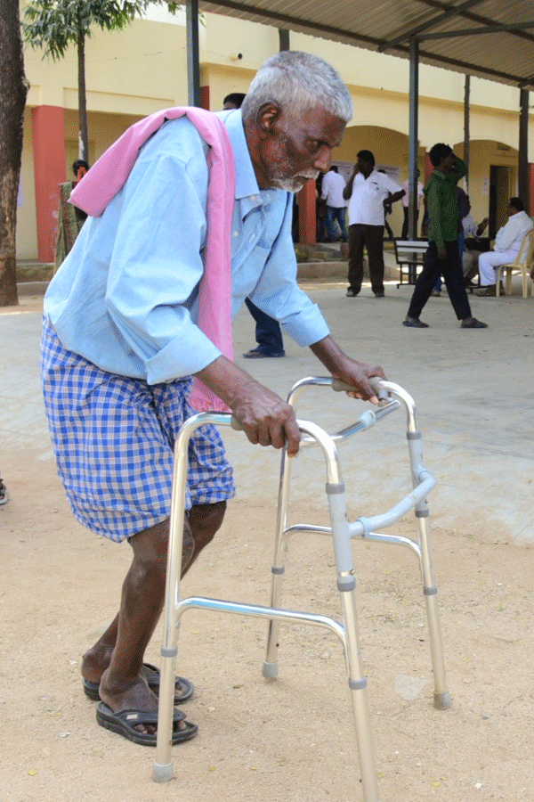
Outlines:
{"label": "blue and white checkered lungi worn by the elderly man", "polygon": [[[63,348],[44,321],[44,406],[58,471],[77,520],[120,542],[169,516],[174,440],[191,379],[149,385],[101,371]],[[186,509],[235,495],[231,465],[214,426],[190,439]]]}

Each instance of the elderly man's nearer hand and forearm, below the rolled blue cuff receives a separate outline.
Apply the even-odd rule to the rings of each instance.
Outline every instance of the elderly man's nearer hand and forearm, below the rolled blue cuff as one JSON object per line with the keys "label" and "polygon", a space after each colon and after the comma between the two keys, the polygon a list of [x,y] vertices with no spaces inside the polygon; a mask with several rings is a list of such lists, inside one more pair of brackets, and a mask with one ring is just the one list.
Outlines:
{"label": "elderly man's nearer hand and forearm, below the rolled blue cuff", "polygon": [[196,375],[231,408],[251,443],[282,448],[287,442],[288,456],[297,454],[300,432],[295,410],[276,393],[225,356]]}

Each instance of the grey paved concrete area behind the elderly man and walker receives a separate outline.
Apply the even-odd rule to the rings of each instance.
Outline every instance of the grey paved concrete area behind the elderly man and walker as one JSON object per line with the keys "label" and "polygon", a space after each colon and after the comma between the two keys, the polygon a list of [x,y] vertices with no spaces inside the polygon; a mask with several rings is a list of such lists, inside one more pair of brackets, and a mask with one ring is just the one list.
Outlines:
{"label": "grey paved concrete area behind the elderly man and walker", "polygon": [[[522,299],[519,284],[509,298],[470,297],[473,315],[490,328],[465,331],[444,295],[429,300],[422,318],[431,328],[420,331],[401,325],[410,287],[397,290],[391,282],[386,298],[375,299],[367,285],[357,299],[347,299],[344,283],[304,286],[342,348],[382,364],[388,378],[415,398],[425,463],[439,481],[429,499],[433,521],[465,536],[484,529],[496,540],[533,542],[534,299]],[[29,470],[43,471],[44,492],[54,470],[38,381],[40,308],[38,296],[21,294],[20,307],[0,309],[0,470],[11,492],[23,487],[22,453],[32,458]],[[243,359],[241,354],[254,345],[254,324],[246,309],[236,321],[234,345],[239,364],[282,395],[303,376],[324,374],[312,353],[290,340],[284,359]],[[303,397],[298,414],[337,429],[363,408],[361,402],[321,389]],[[409,482],[405,430],[401,413],[395,413],[344,446],[344,479],[358,514],[384,511],[404,494]],[[250,446],[231,430],[224,438],[237,466],[239,493],[261,494],[266,504],[276,503],[276,455]],[[319,454],[303,454],[294,472],[297,499],[324,493]]]}

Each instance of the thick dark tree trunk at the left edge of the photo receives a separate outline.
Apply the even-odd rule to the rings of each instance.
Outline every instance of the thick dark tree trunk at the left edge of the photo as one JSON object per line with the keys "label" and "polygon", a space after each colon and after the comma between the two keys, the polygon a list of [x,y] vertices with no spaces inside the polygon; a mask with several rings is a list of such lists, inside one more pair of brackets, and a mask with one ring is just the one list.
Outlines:
{"label": "thick dark tree trunk at the left edge of the photo", "polygon": [[24,74],[19,0],[4,0],[0,26],[0,307],[18,304],[16,274],[17,197],[24,106]]}

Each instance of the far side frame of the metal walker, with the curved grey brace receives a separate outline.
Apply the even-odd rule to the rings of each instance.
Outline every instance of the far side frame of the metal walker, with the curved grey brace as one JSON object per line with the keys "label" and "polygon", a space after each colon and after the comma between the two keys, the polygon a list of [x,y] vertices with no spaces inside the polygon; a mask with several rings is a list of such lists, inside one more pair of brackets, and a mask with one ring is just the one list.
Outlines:
{"label": "far side frame of the metal walker, with the curved grey brace", "polygon": [[[376,515],[373,518],[360,518],[349,526],[351,537],[387,543],[393,545],[403,545],[417,554],[417,561],[423,581],[423,593],[425,595],[426,617],[429,631],[429,642],[431,660],[434,677],[433,704],[435,708],[446,709],[450,707],[450,693],[447,686],[445,672],[445,660],[441,638],[440,615],[438,608],[438,589],[435,583],[432,559],[432,540],[429,526],[429,510],[426,501],[427,493],[434,487],[435,480],[432,475],[425,470],[423,465],[423,454],[421,447],[421,433],[417,429],[416,405],[413,398],[399,385],[390,381],[375,381],[377,392],[382,393],[382,408],[375,414],[375,422],[384,417],[384,414],[392,412],[394,409],[403,405],[407,414],[407,438],[409,446],[409,461],[412,476],[412,493],[407,495],[400,503],[396,504],[392,510]],[[307,387],[332,387],[336,390],[348,390],[349,387],[331,378],[312,377],[298,381],[291,389],[287,402],[291,405],[296,401]],[[391,397],[396,398],[392,401]],[[346,439],[356,431],[365,428],[363,426],[352,425],[338,432],[332,438],[336,441]],[[307,444],[306,444],[307,445]],[[329,527],[317,527],[311,524],[296,524],[287,526],[287,509],[289,503],[290,473],[292,461],[287,459],[284,449],[281,456],[280,484],[279,484],[279,506],[277,531],[275,537],[274,560],[271,568],[271,607],[279,608],[281,604],[282,581],[285,572],[285,554],[288,549],[289,537],[295,533],[314,532],[320,535],[332,535]],[[417,520],[418,540],[397,535],[385,535],[377,533],[375,529],[392,526],[400,520],[409,510],[415,511]],[[278,650],[279,650],[279,620],[270,621],[267,633],[267,646],[265,660],[263,662],[263,675],[265,677],[275,677],[278,675]]]}

